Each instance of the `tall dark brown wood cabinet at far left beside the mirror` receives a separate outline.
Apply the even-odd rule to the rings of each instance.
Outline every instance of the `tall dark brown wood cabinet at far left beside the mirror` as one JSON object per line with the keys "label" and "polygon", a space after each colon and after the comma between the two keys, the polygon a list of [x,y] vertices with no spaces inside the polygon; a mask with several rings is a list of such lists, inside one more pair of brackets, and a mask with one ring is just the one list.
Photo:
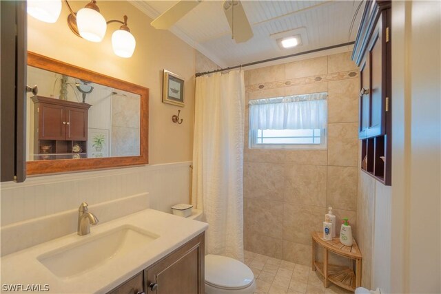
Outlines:
{"label": "tall dark brown wood cabinet at far left beside the mirror", "polygon": [[1,182],[26,178],[26,1],[0,1],[0,177]]}

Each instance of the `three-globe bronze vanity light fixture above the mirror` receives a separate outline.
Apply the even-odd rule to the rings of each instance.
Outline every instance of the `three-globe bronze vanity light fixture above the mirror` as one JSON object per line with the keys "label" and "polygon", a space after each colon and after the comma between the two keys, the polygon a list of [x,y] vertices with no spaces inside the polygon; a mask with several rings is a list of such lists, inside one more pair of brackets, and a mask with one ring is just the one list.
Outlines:
{"label": "three-globe bronze vanity light fixture above the mirror", "polygon": [[[95,0],[90,1],[78,12],[72,10],[68,0],[65,0],[65,3],[70,10],[68,26],[76,36],[91,42],[101,42],[109,23],[121,23],[119,30],[112,34],[112,48],[117,56],[124,58],[132,56],[136,40],[127,26],[126,15],[124,21],[113,19],[106,22]],[[61,13],[61,0],[28,0],[28,13],[40,21],[54,23]]]}

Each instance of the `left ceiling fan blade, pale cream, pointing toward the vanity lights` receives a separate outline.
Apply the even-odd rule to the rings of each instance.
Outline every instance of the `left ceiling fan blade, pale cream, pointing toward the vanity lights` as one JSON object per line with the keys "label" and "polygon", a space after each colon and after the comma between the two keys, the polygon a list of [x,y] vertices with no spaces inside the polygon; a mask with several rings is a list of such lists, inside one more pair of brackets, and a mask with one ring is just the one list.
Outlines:
{"label": "left ceiling fan blade, pale cream, pointing toward the vanity lights", "polygon": [[150,24],[156,29],[167,30],[190,10],[198,6],[199,3],[201,3],[201,0],[179,1],[159,17],[156,17]]}

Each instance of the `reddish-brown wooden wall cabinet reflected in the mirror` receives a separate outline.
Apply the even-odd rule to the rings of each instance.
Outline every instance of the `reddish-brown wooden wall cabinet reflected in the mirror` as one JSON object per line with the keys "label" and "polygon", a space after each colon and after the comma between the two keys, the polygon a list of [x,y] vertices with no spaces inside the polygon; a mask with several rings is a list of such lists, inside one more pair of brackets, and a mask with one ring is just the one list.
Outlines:
{"label": "reddish-brown wooden wall cabinet reflected in the mirror", "polygon": [[[34,96],[32,101],[34,159],[85,158],[88,111],[92,105],[43,96]],[[75,151],[75,145],[81,147],[81,151]]]}

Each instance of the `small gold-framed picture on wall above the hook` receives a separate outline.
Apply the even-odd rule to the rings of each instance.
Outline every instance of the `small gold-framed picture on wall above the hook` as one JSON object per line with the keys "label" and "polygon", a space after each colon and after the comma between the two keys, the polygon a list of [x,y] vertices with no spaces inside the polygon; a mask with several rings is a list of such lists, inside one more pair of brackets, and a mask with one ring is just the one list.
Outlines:
{"label": "small gold-framed picture on wall above the hook", "polygon": [[163,75],[163,103],[184,107],[184,79],[168,70]]}

